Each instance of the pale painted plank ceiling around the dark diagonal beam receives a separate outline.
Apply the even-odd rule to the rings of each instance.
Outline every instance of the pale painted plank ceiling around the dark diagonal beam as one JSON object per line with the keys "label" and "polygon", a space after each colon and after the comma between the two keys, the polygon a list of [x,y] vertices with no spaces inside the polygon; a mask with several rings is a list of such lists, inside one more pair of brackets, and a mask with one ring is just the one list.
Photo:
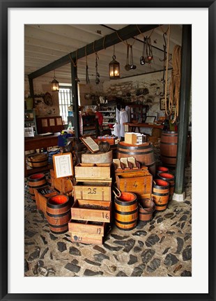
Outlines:
{"label": "pale painted plank ceiling around the dark diagonal beam", "polygon": [[[45,67],[49,63],[60,59],[62,56],[74,52],[77,49],[93,43],[104,36],[114,33],[118,29],[122,29],[128,24],[26,24],[24,30],[24,73],[29,75],[40,68]],[[138,25],[139,26],[139,25]],[[167,31],[169,25],[161,25],[151,31],[139,34],[139,36],[130,38],[127,43],[133,45],[133,61],[137,66],[135,70],[125,70],[127,45],[121,42],[115,45],[116,61],[121,65],[121,77],[130,77],[140,75],[147,72],[163,70],[164,58],[163,33]],[[139,63],[142,55],[144,36],[151,36],[151,44],[153,46],[153,61],[151,64]],[[171,25],[169,53],[172,54],[173,47],[181,45],[182,26]],[[165,36],[168,47],[168,35]],[[98,52],[98,72],[100,74],[100,82],[109,80],[108,65],[112,60],[114,47],[108,47]],[[171,58],[171,55],[169,56]],[[88,75],[90,81],[95,80],[95,54],[87,56]],[[172,60],[169,61],[169,68],[172,67]],[[80,82],[86,81],[86,57],[79,59],[77,64],[78,77]],[[56,79],[59,82],[70,83],[70,63],[63,65],[55,70]],[[54,71],[48,72],[47,81],[51,82],[54,77]]]}

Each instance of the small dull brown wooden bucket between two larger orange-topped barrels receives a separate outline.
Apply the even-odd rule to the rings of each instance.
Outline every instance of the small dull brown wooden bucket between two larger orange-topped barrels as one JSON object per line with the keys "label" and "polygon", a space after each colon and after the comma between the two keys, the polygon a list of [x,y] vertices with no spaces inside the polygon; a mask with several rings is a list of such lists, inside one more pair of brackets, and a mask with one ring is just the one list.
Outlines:
{"label": "small dull brown wooden bucket between two larger orange-topped barrels", "polygon": [[139,220],[144,222],[151,221],[153,212],[155,211],[155,203],[152,199],[139,200]]}

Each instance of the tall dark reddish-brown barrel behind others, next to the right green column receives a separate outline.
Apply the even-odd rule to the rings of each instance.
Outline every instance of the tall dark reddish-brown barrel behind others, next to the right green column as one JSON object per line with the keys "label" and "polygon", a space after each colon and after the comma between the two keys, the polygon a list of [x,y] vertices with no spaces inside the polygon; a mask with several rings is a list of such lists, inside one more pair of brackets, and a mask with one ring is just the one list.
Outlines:
{"label": "tall dark reddish-brown barrel behind others, next to the right green column", "polygon": [[178,132],[162,131],[160,139],[160,155],[164,165],[176,166]]}

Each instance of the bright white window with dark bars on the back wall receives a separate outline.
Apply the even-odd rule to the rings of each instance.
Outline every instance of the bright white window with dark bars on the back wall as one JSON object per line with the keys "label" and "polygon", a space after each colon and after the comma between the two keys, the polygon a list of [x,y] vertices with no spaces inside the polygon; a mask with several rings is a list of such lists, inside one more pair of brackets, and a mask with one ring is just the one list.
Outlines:
{"label": "bright white window with dark bars on the back wall", "polygon": [[72,105],[72,97],[70,86],[59,87],[59,111],[63,124],[68,123],[68,107]]}

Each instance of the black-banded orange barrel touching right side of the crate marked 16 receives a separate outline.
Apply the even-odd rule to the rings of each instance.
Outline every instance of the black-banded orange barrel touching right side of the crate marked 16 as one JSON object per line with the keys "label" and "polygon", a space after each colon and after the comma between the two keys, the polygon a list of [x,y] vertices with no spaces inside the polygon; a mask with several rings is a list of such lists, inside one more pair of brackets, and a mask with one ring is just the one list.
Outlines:
{"label": "black-banded orange barrel touching right side of the crate marked 16", "polygon": [[122,192],[115,196],[115,223],[118,229],[132,230],[137,226],[138,204],[137,196],[132,192]]}

